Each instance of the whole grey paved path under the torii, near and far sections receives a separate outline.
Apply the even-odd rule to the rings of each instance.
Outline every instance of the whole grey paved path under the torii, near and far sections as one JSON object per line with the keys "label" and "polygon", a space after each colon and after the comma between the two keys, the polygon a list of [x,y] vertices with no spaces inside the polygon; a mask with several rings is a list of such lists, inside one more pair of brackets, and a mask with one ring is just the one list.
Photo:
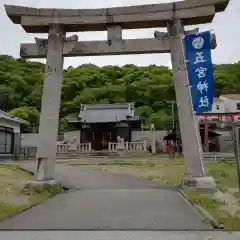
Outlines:
{"label": "whole grey paved path under the torii, near and far sections", "polygon": [[[33,170],[34,165],[23,164],[23,167]],[[0,229],[211,229],[169,186],[60,164],[56,167],[56,178],[75,190],[0,223]]]}

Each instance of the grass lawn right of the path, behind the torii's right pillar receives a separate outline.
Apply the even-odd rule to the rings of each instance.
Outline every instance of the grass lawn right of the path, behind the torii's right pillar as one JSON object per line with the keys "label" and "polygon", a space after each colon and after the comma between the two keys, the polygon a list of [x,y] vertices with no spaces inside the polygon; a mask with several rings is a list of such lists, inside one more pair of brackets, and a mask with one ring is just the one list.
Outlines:
{"label": "grass lawn right of the path, behind the torii's right pillar", "polygon": [[[133,159],[99,163],[94,166],[94,169],[118,173],[117,169],[121,168],[121,173],[125,170],[130,175],[146,176],[146,179],[154,176],[154,179],[158,181],[174,185],[180,184],[184,177],[185,165],[182,157],[175,157],[173,160],[159,158],[158,161],[155,158],[154,163],[151,162],[152,158],[145,158],[144,162],[131,160]],[[226,192],[228,188],[237,187],[236,163],[233,161],[205,163],[205,172],[206,175],[215,178],[217,187],[223,192]]]}

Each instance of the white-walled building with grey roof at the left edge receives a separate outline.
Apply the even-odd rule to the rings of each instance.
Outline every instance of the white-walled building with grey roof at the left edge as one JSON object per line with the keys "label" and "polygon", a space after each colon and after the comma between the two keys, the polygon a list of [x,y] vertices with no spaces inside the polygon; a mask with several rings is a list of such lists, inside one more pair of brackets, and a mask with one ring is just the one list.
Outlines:
{"label": "white-walled building with grey roof at the left edge", "polygon": [[14,154],[20,145],[21,126],[29,123],[0,110],[0,155]]}

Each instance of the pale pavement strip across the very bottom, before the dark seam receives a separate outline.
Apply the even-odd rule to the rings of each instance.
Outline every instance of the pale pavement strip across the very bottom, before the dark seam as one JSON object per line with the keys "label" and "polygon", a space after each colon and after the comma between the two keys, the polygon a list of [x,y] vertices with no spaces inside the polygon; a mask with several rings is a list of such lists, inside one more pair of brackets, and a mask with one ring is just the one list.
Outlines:
{"label": "pale pavement strip across the very bottom, before the dark seam", "polygon": [[239,233],[167,231],[1,232],[1,240],[239,240]]}

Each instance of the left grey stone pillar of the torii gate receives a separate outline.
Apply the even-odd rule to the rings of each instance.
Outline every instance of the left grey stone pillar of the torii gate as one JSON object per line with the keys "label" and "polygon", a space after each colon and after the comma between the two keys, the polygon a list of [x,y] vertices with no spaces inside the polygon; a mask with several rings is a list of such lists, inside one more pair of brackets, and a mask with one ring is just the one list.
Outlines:
{"label": "left grey stone pillar of the torii gate", "polygon": [[65,32],[60,26],[50,27],[37,150],[37,159],[47,161],[42,180],[53,180],[55,174],[64,37]]}

